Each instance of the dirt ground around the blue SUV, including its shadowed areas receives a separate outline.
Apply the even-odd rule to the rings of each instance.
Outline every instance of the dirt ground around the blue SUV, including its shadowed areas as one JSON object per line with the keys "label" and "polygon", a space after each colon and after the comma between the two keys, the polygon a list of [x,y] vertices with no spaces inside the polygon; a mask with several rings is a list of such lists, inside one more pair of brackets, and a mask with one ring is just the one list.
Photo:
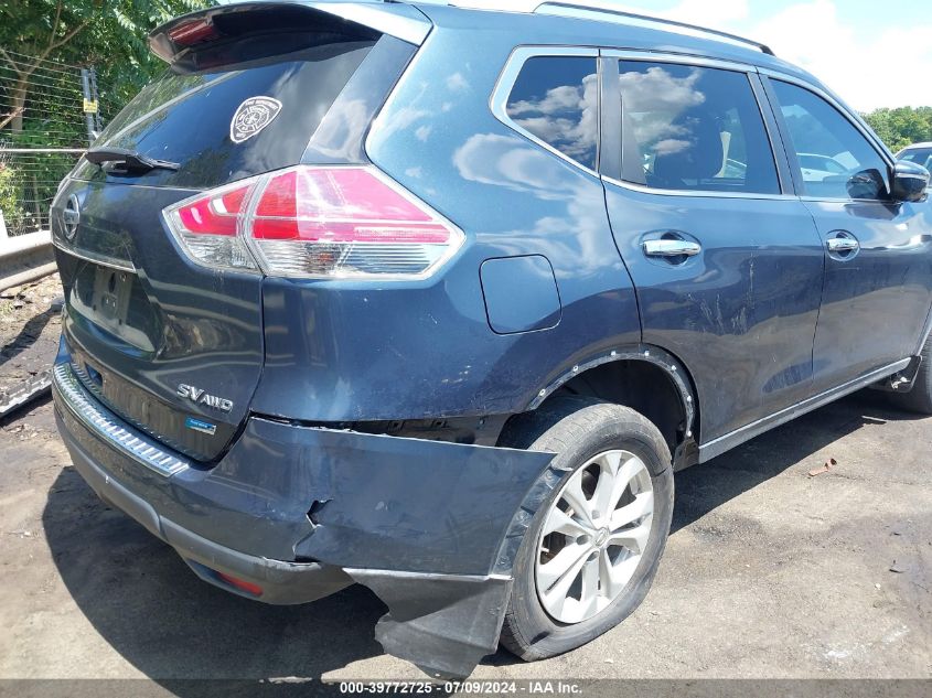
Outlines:
{"label": "dirt ground around the blue SUV, including its shadowed areas", "polygon": [[[932,677],[932,419],[880,397],[678,474],[632,618],[547,662],[500,652],[474,677]],[[96,498],[47,398],[0,422],[0,678],[421,678],[373,640],[383,613],[360,587],[299,608],[214,589]]]}

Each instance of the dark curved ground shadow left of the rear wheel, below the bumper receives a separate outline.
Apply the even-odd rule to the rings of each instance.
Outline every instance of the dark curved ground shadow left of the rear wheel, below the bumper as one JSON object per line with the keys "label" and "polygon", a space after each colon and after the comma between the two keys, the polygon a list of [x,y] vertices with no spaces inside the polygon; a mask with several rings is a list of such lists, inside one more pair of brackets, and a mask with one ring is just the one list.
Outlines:
{"label": "dark curved ground shadow left of the rear wheel, below the bumper", "polygon": [[42,523],[58,573],[94,629],[179,695],[203,695],[203,684],[185,679],[319,679],[382,654],[373,629],[386,609],[364,587],[298,606],[216,589],[100,502],[74,468],[50,488]]}

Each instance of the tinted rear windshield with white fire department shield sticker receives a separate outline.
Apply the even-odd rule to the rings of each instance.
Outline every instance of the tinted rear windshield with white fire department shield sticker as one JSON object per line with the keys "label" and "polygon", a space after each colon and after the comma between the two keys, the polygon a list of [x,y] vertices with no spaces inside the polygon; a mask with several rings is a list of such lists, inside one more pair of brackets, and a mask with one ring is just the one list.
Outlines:
{"label": "tinted rear windshield with white fire department shield sticker", "polygon": [[[144,175],[146,184],[207,187],[297,164],[374,43],[329,43],[216,71],[169,69],[120,111],[94,146],[126,148],[180,165],[176,172],[153,170]],[[92,176],[96,170],[86,164],[77,175]]]}

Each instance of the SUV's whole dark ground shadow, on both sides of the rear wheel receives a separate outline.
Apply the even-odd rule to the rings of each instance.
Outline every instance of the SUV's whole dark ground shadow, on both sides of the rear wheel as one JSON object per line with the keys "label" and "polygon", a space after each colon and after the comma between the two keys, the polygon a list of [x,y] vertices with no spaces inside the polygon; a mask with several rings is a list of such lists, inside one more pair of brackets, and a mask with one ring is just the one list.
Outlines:
{"label": "SUV's whole dark ground shadow, on both sides of the rear wheel", "polygon": [[[882,396],[860,394],[678,473],[673,531],[865,425],[909,417]],[[42,518],[54,563],[84,615],[127,662],[178,695],[204,695],[203,685],[184,679],[319,679],[383,654],[373,629],[386,609],[367,589],[351,587],[301,606],[215,589],[168,545],[101,503],[73,468],[54,482]],[[505,651],[484,661],[516,662]]]}

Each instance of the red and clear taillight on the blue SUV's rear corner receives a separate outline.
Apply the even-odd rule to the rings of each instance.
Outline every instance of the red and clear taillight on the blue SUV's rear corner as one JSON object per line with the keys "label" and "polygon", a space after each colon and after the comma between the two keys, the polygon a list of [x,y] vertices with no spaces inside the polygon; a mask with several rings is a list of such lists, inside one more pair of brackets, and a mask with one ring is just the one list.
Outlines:
{"label": "red and clear taillight on the blue SUV's rear corner", "polygon": [[372,167],[301,165],[165,210],[189,256],[210,267],[306,278],[422,278],[462,233]]}

